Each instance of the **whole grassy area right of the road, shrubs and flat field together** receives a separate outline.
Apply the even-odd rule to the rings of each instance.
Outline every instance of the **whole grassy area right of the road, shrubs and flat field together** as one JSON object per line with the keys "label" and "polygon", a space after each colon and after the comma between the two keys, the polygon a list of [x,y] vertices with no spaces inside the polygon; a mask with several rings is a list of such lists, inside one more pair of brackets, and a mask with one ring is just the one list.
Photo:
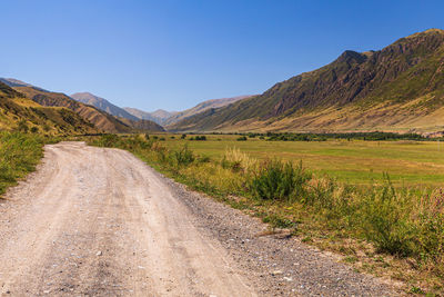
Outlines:
{"label": "whole grassy area right of the road, shrubs and flat field together", "polygon": [[403,281],[405,293],[444,294],[444,152],[437,142],[204,139],[107,135],[89,143],[127,149],[262,219],[270,234],[286,230],[339,253],[360,271]]}

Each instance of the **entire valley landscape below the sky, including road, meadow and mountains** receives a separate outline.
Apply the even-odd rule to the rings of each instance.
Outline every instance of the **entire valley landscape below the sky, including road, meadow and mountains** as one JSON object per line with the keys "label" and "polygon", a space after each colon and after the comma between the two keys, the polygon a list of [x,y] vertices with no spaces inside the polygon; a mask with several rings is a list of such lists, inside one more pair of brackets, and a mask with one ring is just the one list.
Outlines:
{"label": "entire valley landscape below the sky, including road, meadow and mountains", "polygon": [[444,294],[444,30],[240,93],[0,78],[0,293]]}

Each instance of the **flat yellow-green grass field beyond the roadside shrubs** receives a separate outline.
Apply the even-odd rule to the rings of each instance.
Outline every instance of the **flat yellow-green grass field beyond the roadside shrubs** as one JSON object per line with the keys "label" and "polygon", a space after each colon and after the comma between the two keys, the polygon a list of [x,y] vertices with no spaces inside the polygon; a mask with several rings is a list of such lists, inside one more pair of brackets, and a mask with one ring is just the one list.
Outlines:
{"label": "flat yellow-green grass field beyond the roadside shrubs", "polygon": [[193,141],[181,140],[180,136],[163,137],[169,148],[186,142],[194,152],[215,159],[222,158],[226,148],[235,147],[259,159],[302,160],[317,175],[327,174],[353,185],[380,181],[383,172],[389,172],[396,185],[444,185],[444,143],[436,141],[236,141],[239,136],[234,135],[210,135],[206,141]]}

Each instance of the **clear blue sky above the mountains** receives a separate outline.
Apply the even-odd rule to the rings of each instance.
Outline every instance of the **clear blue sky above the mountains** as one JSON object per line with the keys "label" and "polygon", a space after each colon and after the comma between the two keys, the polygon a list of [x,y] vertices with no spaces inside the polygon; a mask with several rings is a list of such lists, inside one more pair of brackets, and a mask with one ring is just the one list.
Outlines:
{"label": "clear blue sky above the mountains", "polygon": [[444,29],[444,1],[1,1],[0,77],[182,110]]}

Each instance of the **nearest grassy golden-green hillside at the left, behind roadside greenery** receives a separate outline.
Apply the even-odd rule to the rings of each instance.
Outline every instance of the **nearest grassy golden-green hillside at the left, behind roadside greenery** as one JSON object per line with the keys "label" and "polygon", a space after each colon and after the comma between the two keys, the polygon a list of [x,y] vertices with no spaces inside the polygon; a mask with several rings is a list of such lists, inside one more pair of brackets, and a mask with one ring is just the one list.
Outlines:
{"label": "nearest grassy golden-green hillside at the left, behind roadside greenery", "polygon": [[46,135],[94,133],[90,122],[67,108],[49,108],[0,82],[0,130]]}

